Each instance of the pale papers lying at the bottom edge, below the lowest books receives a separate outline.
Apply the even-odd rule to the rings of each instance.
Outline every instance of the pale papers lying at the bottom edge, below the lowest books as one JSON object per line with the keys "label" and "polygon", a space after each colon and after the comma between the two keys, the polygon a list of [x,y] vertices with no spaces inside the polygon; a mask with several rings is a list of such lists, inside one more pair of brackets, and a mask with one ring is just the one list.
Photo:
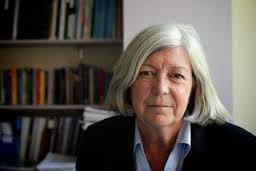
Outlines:
{"label": "pale papers lying at the bottom edge, below the lowest books", "polygon": [[37,165],[38,171],[75,171],[76,157],[48,153]]}

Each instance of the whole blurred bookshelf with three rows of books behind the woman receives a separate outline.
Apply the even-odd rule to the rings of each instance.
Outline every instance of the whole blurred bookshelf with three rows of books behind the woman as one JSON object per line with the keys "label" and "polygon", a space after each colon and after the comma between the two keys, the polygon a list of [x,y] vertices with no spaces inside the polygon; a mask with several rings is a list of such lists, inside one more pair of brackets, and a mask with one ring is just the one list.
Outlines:
{"label": "whole blurred bookshelf with three rows of books behind the woman", "polygon": [[[27,25],[30,24],[30,22],[36,24],[37,21],[32,19],[33,15],[31,14],[19,14],[19,11],[26,11],[26,6],[35,6],[35,2],[37,3],[38,1],[10,0],[4,1],[5,4],[1,2],[0,19],[3,19],[6,15],[3,13],[3,8],[1,8],[3,5],[5,8],[8,6],[6,2],[10,2],[9,5],[13,5],[10,9],[14,14],[7,17],[13,19],[13,23],[10,24],[10,22],[3,20],[6,27],[0,29],[1,72],[9,72],[11,69],[14,69],[16,74],[18,74],[19,69],[31,69],[33,72],[35,72],[34,70],[36,69],[40,69],[47,73],[44,77],[46,78],[45,80],[47,80],[50,70],[63,68],[72,68],[72,72],[74,71],[76,74],[75,77],[77,77],[77,72],[79,72],[77,71],[78,66],[83,65],[88,67],[89,70],[92,68],[94,70],[96,68],[96,70],[100,69],[104,72],[111,73],[112,67],[120,56],[123,47],[121,0],[42,0],[39,3],[42,5],[41,7],[45,7],[48,9],[48,12],[50,11],[52,14],[47,14],[47,30],[39,29],[45,28],[45,23],[44,27],[41,27],[42,25],[40,25],[40,27],[39,25],[31,25],[31,28],[28,28]],[[90,4],[90,6],[88,7],[87,5],[84,5],[85,2],[88,2],[87,4]],[[79,3],[79,5],[76,3]],[[49,5],[51,5],[51,8],[49,8]],[[85,6],[85,9],[82,8],[83,5]],[[78,11],[83,10],[90,11],[91,14],[89,14],[89,17],[91,17],[91,19],[88,19],[88,16],[87,18],[86,16],[84,16],[84,18],[81,17],[81,12]],[[109,14],[109,10],[114,10],[115,12]],[[101,13],[99,14],[98,11],[101,11]],[[35,17],[43,17],[42,15],[37,14],[36,10],[33,10],[32,12],[34,12]],[[47,10],[41,12],[47,13]],[[105,15],[102,15],[103,13]],[[83,14],[88,15],[84,13],[84,11]],[[63,15],[66,17],[63,17]],[[30,16],[32,16],[32,18],[30,18]],[[30,22],[25,20],[26,17],[29,18]],[[111,19],[111,17],[115,19]],[[89,24],[88,27],[88,22],[83,23],[85,20],[91,21],[91,24]],[[39,19],[39,21],[45,22],[46,20]],[[10,27],[10,25],[12,25],[12,28],[8,29],[7,27]],[[73,25],[75,25],[75,27],[73,27]],[[112,26],[113,28],[111,28]],[[91,29],[89,35],[88,28]],[[8,34],[5,34],[7,30]],[[10,30],[12,30],[12,32],[10,32]],[[37,33],[37,31],[40,33]],[[47,34],[45,34],[46,32]],[[80,79],[79,74],[78,76]],[[12,78],[12,76],[10,78]],[[37,78],[37,76],[33,78],[33,83],[35,82],[35,78]],[[3,89],[3,82],[6,82],[6,80],[3,80],[3,77],[1,76],[1,99],[3,99],[3,96],[6,96],[6,94],[3,93],[6,91],[5,88]],[[15,87],[19,88],[18,77],[15,82],[17,84]],[[91,83],[91,79],[88,82]],[[45,81],[43,84],[46,85],[44,87],[45,90],[43,91],[43,94],[45,95],[49,93],[49,82]],[[93,81],[92,85],[93,87],[96,87],[94,91],[100,92],[100,89],[102,90],[102,88],[97,87],[99,84],[101,84],[99,81]],[[9,86],[12,87],[11,85]],[[79,88],[82,89],[83,87]],[[35,84],[32,84],[32,89],[36,89]],[[16,153],[12,154],[13,156],[7,156],[9,152],[3,151],[5,146],[2,146],[3,136],[5,135],[2,135],[0,141],[0,170],[35,170],[36,164],[42,160],[48,151],[75,155],[76,143],[81,132],[80,122],[84,108],[86,106],[101,105],[102,101],[98,103],[89,100],[85,102],[75,102],[71,100],[71,102],[65,101],[64,103],[49,103],[48,100],[44,100],[41,104],[34,101],[21,103],[17,100],[19,98],[18,91],[24,93],[24,89],[21,88],[20,90],[15,90],[17,96],[15,97],[16,102],[14,104],[0,100],[0,124],[10,123],[15,143],[17,144],[16,140],[19,140],[19,148],[22,148],[21,146],[26,146],[26,150],[25,152],[24,150],[21,152],[22,150],[16,149],[18,147],[16,147],[15,144],[8,144],[9,147],[16,150]],[[87,91],[90,90],[88,89]],[[32,93],[32,99],[35,100],[36,91],[33,91]],[[84,92],[80,94],[84,94]],[[73,93],[73,96],[79,96],[80,94],[79,92],[78,94]],[[58,95],[54,94],[52,96],[54,97]],[[89,94],[84,96],[88,96],[89,98]],[[102,97],[102,95],[98,94],[94,94],[94,96]],[[45,97],[45,99],[47,98],[48,97]],[[94,100],[96,99],[96,97],[93,98]],[[24,132],[22,131],[24,129],[26,129],[27,132],[26,136],[24,136]],[[34,130],[39,130],[39,132],[36,133]],[[72,131],[74,132],[72,133]],[[45,132],[51,132],[51,134]],[[56,136],[54,139],[56,142],[54,143],[52,143],[53,140],[51,138],[45,138],[46,135],[53,136],[52,132],[55,132],[54,135]],[[56,134],[56,132],[58,134]],[[64,133],[62,134],[62,132]],[[25,145],[24,139],[27,139]],[[41,145],[43,141],[50,141],[50,139],[51,143],[48,142],[48,145]],[[76,141],[70,141],[69,139]],[[56,145],[58,143],[60,144]],[[27,167],[27,164],[29,167]]]}

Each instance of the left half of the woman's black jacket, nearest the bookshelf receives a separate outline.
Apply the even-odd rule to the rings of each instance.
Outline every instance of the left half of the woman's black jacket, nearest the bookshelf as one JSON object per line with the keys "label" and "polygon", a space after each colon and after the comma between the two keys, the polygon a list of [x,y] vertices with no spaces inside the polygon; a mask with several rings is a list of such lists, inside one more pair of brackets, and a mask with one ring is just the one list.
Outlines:
{"label": "left half of the woman's black jacket, nearest the bookshelf", "polygon": [[80,138],[76,170],[129,170],[133,137],[133,117],[119,115],[90,125]]}

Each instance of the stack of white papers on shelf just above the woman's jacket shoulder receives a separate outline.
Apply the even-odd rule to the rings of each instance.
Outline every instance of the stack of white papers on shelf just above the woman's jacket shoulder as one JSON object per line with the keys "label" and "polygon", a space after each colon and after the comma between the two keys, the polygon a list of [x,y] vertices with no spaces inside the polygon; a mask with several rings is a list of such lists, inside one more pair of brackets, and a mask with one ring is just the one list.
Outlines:
{"label": "stack of white papers on shelf just above the woman's jacket shoulder", "polygon": [[86,106],[83,113],[83,129],[86,129],[89,125],[117,115],[116,112],[104,109],[102,107]]}

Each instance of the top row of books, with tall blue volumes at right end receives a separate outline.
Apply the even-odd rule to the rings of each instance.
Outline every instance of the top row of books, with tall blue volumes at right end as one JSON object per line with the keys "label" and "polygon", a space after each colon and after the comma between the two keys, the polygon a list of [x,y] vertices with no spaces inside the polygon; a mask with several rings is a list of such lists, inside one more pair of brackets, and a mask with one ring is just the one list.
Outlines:
{"label": "top row of books, with tall blue volumes at right end", "polygon": [[0,39],[121,39],[122,18],[122,0],[2,0]]}

